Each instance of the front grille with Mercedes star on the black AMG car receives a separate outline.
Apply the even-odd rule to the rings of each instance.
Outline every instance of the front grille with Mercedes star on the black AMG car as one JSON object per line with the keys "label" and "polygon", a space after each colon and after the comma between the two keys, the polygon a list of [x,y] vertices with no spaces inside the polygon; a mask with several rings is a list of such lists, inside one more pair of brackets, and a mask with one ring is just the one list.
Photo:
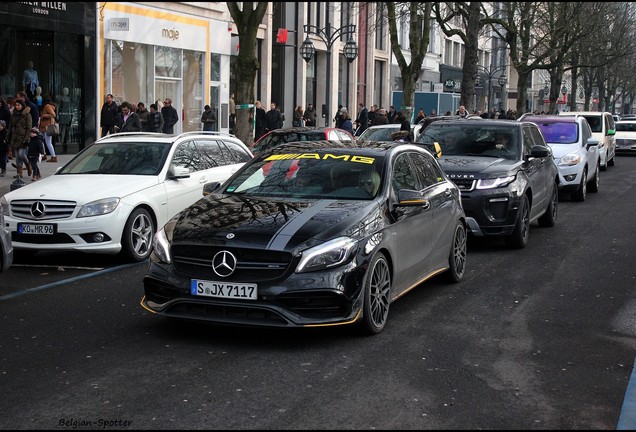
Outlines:
{"label": "front grille with Mercedes star on the black AMG car", "polygon": [[282,277],[290,267],[292,256],[288,252],[221,248],[218,246],[173,246],[175,268],[193,279],[218,280],[212,270],[212,258],[217,252],[227,250],[236,257],[236,270],[223,280],[228,282],[263,282]]}

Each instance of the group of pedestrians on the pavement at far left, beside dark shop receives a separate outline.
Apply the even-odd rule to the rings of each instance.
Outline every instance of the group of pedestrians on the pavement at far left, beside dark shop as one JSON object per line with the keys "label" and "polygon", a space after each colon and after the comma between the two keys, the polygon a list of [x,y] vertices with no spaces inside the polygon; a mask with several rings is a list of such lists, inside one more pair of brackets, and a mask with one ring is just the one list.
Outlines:
{"label": "group of pedestrians on the pavement at far left, beside dark shop", "polygon": [[[49,95],[42,97],[39,108],[26,90],[17,92],[11,100],[0,98],[0,177],[7,174],[9,161],[13,160],[14,178],[22,179],[26,168],[32,181],[40,179],[40,160],[57,162],[53,143],[57,133],[49,129],[57,122],[57,104]],[[57,128],[59,131],[59,125]]]}

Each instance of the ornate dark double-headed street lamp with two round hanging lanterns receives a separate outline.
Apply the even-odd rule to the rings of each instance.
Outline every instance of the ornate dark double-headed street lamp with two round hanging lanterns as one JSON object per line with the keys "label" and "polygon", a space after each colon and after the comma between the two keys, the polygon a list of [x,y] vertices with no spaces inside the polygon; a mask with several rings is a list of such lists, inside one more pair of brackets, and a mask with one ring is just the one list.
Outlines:
{"label": "ornate dark double-headed street lamp with two round hanging lanterns", "polygon": [[310,34],[315,34],[318,36],[327,46],[327,89],[326,89],[326,111],[325,111],[325,126],[329,126],[329,119],[331,116],[329,115],[329,104],[331,99],[331,47],[338,40],[340,36],[349,35],[349,40],[344,46],[343,55],[345,58],[351,63],[358,57],[358,45],[353,40],[353,34],[356,31],[355,24],[349,24],[339,29],[336,29],[330,25],[327,25],[325,28],[318,28],[312,24],[305,24],[303,29],[307,36],[305,37],[305,41],[300,46],[300,56],[306,61],[309,62],[314,57],[316,53],[316,49],[314,48],[314,44],[309,39]]}

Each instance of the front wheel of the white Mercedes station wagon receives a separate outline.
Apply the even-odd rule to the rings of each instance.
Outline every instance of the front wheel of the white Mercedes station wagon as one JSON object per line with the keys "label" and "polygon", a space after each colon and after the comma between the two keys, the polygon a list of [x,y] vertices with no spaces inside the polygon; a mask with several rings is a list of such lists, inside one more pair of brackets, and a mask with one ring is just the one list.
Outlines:
{"label": "front wheel of the white Mercedes station wagon", "polygon": [[152,251],[152,238],[155,235],[155,222],[148,210],[135,209],[124,226],[121,237],[122,254],[132,261],[143,261]]}

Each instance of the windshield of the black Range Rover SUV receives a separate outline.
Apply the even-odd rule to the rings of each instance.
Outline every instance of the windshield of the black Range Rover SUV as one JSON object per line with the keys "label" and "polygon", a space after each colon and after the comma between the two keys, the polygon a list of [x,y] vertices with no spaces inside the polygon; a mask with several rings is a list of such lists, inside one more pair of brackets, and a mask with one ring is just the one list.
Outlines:
{"label": "windshield of the black Range Rover SUV", "polygon": [[439,143],[442,157],[484,156],[517,160],[521,154],[518,128],[502,124],[433,122],[418,136],[417,142]]}

